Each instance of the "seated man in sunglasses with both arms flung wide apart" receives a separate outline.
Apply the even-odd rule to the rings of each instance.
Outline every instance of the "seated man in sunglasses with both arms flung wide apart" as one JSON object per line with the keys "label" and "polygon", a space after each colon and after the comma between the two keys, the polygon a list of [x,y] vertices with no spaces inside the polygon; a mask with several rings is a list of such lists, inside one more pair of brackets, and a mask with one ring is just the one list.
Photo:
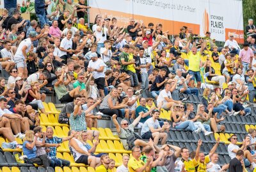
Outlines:
{"label": "seated man in sunglasses with both arms flung wide apart", "polygon": [[128,124],[127,120],[122,120],[121,126],[118,124],[116,117],[117,117],[116,115],[113,115],[113,117],[112,117],[113,123],[116,127],[116,132],[117,132],[118,136],[120,137],[122,144],[124,145],[125,150],[131,150],[131,148],[134,146],[140,146],[140,147],[145,148],[145,147],[152,145],[151,141],[147,143],[147,142],[139,139],[137,136],[136,136],[136,140],[134,140],[132,143],[131,143],[131,141],[129,142],[127,140],[127,138],[129,136],[131,136],[131,134],[134,134],[134,127],[139,123],[139,121],[141,119],[141,115],[139,115],[139,117],[137,117],[134,120],[134,122],[132,122],[132,124],[130,124],[130,125]]}

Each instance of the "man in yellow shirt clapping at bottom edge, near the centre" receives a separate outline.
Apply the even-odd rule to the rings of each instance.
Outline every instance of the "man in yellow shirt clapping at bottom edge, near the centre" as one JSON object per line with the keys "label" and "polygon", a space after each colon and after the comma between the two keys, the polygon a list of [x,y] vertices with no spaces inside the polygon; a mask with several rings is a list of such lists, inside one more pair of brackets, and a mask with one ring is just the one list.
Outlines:
{"label": "man in yellow shirt clapping at bottom edge, near the centre", "polygon": [[148,157],[147,162],[143,162],[140,159],[140,156],[141,156],[140,147],[138,147],[138,146],[133,147],[132,148],[132,157],[130,158],[130,160],[128,162],[129,172],[136,172],[136,171],[150,172],[151,171],[151,165],[152,165],[153,158]]}

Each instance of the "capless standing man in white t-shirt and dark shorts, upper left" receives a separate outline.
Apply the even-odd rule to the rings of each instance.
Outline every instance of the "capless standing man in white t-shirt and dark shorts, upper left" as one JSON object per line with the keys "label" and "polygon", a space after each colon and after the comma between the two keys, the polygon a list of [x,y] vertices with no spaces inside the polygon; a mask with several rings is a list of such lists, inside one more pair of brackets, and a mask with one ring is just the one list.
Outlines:
{"label": "capless standing man in white t-shirt and dark shorts, upper left", "polygon": [[63,63],[67,64],[68,55],[72,55],[74,50],[72,50],[72,31],[67,31],[67,36],[61,40],[60,43],[60,58],[63,59]]}

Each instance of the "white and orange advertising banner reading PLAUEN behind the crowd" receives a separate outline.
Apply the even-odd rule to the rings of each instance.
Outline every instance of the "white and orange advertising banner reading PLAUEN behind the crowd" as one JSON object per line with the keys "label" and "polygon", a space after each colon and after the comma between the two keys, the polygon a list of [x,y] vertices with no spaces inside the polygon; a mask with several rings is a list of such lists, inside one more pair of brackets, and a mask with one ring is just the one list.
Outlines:
{"label": "white and orange advertising banner reading PLAUEN behind the crowd", "polygon": [[186,25],[193,32],[225,41],[234,33],[243,43],[243,6],[237,0],[89,0],[90,22],[97,14],[116,17],[118,25],[128,25],[129,19],[147,25],[149,22],[163,24],[163,31],[179,34]]}

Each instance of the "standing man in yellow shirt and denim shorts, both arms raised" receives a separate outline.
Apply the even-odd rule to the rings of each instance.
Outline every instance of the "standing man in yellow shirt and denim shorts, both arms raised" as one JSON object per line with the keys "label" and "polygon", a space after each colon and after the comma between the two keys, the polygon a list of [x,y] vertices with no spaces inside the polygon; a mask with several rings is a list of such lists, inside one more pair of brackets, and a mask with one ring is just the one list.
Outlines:
{"label": "standing man in yellow shirt and denim shorts, both arms raised", "polygon": [[201,48],[199,52],[197,51],[197,48],[195,46],[193,46],[190,50],[189,49],[190,43],[191,43],[191,39],[189,39],[188,44],[186,46],[188,61],[189,61],[188,73],[189,75],[193,76],[189,82],[189,87],[192,87],[192,88],[194,87],[194,83],[196,79],[197,88],[200,89],[201,87],[200,66],[202,66],[202,63],[200,61],[200,56],[204,52],[205,43],[203,42],[201,44]]}

